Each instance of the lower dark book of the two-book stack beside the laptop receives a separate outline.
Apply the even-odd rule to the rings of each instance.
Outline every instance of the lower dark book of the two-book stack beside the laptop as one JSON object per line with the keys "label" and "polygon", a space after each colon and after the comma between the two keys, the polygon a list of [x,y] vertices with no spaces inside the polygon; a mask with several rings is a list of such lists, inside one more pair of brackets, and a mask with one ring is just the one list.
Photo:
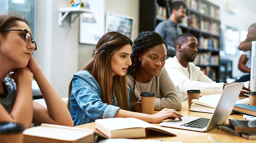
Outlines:
{"label": "lower dark book of the two-book stack beside the laptop", "polygon": [[256,139],[256,133],[238,133],[232,128],[232,126],[230,124],[217,125],[217,128],[220,130],[229,132],[231,134],[244,137],[245,139],[248,139],[248,140]]}

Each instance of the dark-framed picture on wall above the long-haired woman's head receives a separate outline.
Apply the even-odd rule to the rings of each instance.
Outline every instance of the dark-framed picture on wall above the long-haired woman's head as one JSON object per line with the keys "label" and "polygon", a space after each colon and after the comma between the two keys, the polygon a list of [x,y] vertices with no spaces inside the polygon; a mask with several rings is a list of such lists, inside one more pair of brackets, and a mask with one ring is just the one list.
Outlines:
{"label": "dark-framed picture on wall above the long-haired woman's head", "polygon": [[105,32],[118,31],[132,39],[134,32],[134,20],[135,18],[133,17],[107,12]]}

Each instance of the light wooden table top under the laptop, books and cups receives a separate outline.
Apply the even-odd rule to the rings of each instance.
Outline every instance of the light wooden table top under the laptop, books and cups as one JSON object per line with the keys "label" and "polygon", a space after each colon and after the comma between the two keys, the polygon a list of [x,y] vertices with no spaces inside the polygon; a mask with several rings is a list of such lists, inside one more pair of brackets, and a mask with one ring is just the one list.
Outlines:
{"label": "light wooden table top under the laptop, books and cups", "polygon": [[[158,111],[154,111],[154,113],[157,113],[157,112]],[[189,111],[188,101],[182,102],[182,110],[178,111],[178,112],[183,115],[192,115],[192,116],[207,117],[207,118],[212,117],[211,113]],[[243,114],[241,114],[241,113],[232,114],[229,116],[229,118],[244,119]],[[226,123],[228,123],[228,121]],[[159,124],[154,124],[154,125],[160,126]],[[79,125],[79,126],[75,126],[75,127],[95,130],[95,122],[83,124],[83,125]],[[256,142],[256,140],[247,140],[247,139],[244,139],[243,137],[233,135],[231,133],[219,130],[217,128],[214,128],[208,132],[196,132],[196,131],[168,128],[168,127],[163,127],[163,126],[161,126],[161,127],[170,131],[171,133],[176,134],[177,136],[170,137],[170,136],[163,136],[163,135],[150,135],[146,138],[138,139],[138,140],[162,139],[163,141],[182,141],[183,143],[199,143],[199,142],[200,143],[212,143],[212,141],[208,140],[208,138],[207,138],[207,136],[211,136],[214,139],[220,141],[221,143],[244,143],[244,142],[255,143]],[[97,130],[95,130],[95,131],[99,132]]]}

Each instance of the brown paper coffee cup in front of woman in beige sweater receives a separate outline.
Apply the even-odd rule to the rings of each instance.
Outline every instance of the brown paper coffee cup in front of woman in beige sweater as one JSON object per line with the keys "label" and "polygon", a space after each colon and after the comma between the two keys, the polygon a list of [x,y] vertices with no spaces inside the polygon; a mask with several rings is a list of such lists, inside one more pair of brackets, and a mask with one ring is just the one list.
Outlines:
{"label": "brown paper coffee cup in front of woman in beige sweater", "polygon": [[142,113],[153,114],[155,107],[156,94],[150,92],[141,92]]}

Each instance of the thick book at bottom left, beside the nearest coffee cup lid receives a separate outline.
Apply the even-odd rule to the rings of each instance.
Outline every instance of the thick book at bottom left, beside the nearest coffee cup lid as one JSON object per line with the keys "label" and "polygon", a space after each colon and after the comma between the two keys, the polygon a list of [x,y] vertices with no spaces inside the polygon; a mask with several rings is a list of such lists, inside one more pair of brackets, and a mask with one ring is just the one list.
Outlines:
{"label": "thick book at bottom left, beside the nearest coffee cup lid", "polygon": [[41,124],[24,132],[24,143],[94,143],[94,130]]}

